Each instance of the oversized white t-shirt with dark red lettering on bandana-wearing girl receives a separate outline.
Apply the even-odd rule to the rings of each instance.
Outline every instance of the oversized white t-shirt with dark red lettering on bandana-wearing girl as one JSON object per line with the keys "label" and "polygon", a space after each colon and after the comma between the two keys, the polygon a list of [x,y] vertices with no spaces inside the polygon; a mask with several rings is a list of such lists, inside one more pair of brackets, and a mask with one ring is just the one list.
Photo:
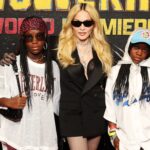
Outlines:
{"label": "oversized white t-shirt with dark red lettering on bandana-wearing girl", "polygon": [[[17,64],[20,73],[20,57]],[[45,64],[37,64],[28,58],[32,107],[23,109],[20,122],[13,122],[0,115],[0,141],[17,150],[57,150],[57,134],[54,112],[59,113],[60,76],[53,61],[54,96],[47,100],[45,88]],[[21,80],[21,85],[23,84]],[[0,67],[0,97],[18,95],[17,82],[12,66]]]}

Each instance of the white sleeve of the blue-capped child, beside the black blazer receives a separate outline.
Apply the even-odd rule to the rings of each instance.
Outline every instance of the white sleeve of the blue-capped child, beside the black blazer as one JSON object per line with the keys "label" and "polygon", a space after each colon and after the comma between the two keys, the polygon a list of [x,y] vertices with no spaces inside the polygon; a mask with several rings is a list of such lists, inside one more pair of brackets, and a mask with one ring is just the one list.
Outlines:
{"label": "white sleeve of the blue-capped child, beside the black blazer", "polygon": [[108,76],[105,88],[105,103],[106,110],[104,113],[104,118],[110,122],[116,123],[116,105],[113,100],[113,89],[115,81],[118,75],[119,67],[115,66],[112,68],[110,75]]}

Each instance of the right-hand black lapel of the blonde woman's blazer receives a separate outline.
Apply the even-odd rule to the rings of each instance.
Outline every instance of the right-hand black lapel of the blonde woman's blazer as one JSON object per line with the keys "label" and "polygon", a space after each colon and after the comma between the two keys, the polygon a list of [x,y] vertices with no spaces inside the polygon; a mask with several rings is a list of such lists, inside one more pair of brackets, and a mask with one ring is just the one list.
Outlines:
{"label": "right-hand black lapel of the blonde woman's blazer", "polygon": [[82,94],[88,92],[95,84],[98,83],[100,78],[103,76],[102,64],[98,59],[95,51],[93,51],[93,58],[94,58],[94,70],[89,76],[89,79],[87,80],[84,86]]}

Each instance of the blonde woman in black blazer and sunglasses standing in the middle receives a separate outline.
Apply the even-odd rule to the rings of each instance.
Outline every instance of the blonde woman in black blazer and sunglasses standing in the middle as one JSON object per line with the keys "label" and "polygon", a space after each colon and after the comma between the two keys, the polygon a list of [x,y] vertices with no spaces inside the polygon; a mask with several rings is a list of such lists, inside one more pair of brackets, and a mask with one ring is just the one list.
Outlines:
{"label": "blonde woman in black blazer and sunglasses standing in the middle", "polygon": [[59,35],[60,129],[71,150],[96,150],[105,132],[105,79],[112,66],[96,9],[76,4]]}

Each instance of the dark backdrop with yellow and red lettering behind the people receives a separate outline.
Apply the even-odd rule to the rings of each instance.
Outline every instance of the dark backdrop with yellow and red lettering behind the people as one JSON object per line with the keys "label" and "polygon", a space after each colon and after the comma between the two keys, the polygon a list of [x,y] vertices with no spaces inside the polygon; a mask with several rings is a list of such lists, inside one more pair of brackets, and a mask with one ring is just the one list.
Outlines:
{"label": "dark backdrop with yellow and red lettering behind the people", "polygon": [[31,15],[46,21],[49,45],[52,45],[51,38],[59,35],[68,11],[76,3],[97,8],[116,61],[134,29],[150,29],[150,0],[0,0],[0,57],[17,49],[21,22]]}

